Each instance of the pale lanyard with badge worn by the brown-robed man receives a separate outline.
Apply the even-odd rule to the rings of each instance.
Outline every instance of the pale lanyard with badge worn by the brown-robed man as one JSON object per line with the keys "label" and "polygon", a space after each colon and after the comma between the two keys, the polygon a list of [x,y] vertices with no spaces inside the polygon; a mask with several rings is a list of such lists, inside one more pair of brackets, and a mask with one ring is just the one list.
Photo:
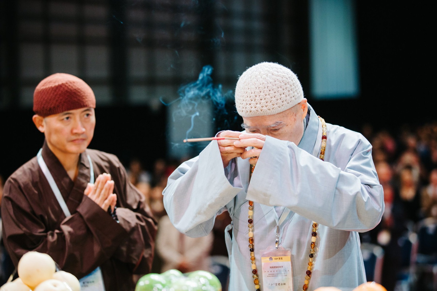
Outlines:
{"label": "pale lanyard with badge worn by the brown-robed man", "polygon": [[[44,159],[42,158],[42,149],[38,151],[37,160],[39,167],[41,168],[45,178],[49,182],[50,188],[52,188],[53,193],[55,194],[56,200],[58,200],[59,205],[62,208],[62,211],[65,214],[65,217],[71,216],[70,211],[68,210],[67,204],[65,203],[64,198],[62,197],[61,191],[59,191],[58,185],[56,185],[55,179],[53,179],[52,173],[50,173],[47,164],[45,164]],[[87,155],[88,161],[90,162],[90,183],[94,184],[94,168],[93,163],[91,162],[91,158]],[[80,287],[82,291],[104,291],[103,284],[103,276],[100,270],[100,267],[97,267],[90,274],[83,277],[79,280]]]}

